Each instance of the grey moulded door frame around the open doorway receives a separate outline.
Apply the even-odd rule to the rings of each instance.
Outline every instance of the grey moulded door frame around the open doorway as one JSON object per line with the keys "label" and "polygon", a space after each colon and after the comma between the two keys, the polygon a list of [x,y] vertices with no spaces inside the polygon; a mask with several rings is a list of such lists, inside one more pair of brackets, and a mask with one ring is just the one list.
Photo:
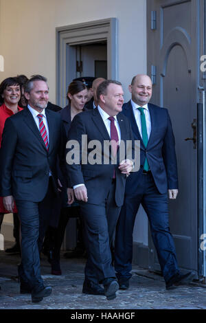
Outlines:
{"label": "grey moulded door frame around the open doorway", "polygon": [[76,69],[76,65],[68,65],[68,55],[75,54],[74,45],[106,41],[108,79],[119,80],[117,24],[117,18],[109,18],[56,28],[56,104],[60,107],[66,105],[67,85],[72,80],[69,74]]}

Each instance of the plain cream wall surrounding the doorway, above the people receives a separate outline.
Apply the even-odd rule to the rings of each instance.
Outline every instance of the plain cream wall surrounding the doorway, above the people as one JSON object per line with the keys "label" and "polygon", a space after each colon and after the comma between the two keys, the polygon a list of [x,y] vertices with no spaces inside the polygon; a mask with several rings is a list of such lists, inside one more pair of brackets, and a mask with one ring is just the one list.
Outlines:
{"label": "plain cream wall surrounding the doorway, above the people", "polygon": [[117,17],[119,80],[126,100],[128,84],[146,72],[146,0],[0,0],[0,54],[5,71],[47,76],[50,99],[56,100],[56,27]]}

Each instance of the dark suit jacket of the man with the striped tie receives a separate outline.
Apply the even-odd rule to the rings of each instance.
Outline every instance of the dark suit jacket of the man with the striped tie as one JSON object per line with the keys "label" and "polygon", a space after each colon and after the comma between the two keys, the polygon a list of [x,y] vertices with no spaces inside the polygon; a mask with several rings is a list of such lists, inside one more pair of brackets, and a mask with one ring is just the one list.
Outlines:
{"label": "dark suit jacket of the man with the striped tie", "polygon": [[65,173],[65,142],[62,140],[60,115],[45,110],[49,126],[49,151],[29,109],[16,113],[5,122],[1,144],[1,196],[14,199],[42,201],[52,171],[57,191],[56,159],[59,156]]}

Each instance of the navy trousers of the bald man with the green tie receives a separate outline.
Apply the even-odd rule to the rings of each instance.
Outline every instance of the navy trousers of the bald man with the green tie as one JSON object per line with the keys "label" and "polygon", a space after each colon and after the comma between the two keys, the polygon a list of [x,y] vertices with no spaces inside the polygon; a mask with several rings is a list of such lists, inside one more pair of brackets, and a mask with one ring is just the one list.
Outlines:
{"label": "navy trousers of the bald man with the green tie", "polygon": [[133,195],[126,195],[119,215],[115,239],[115,271],[117,278],[130,278],[133,260],[133,228],[139,205],[143,206],[150,223],[152,240],[165,281],[179,272],[176,251],[168,219],[168,192],[159,194],[151,174],[141,174]]}

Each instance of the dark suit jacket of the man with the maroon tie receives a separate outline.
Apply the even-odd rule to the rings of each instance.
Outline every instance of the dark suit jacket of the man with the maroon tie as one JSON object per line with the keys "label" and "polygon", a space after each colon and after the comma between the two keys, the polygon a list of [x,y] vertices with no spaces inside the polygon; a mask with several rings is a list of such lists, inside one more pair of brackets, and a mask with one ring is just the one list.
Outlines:
{"label": "dark suit jacket of the man with the maroon tie", "polygon": [[[122,114],[117,115],[117,120],[121,129],[121,142],[126,140],[133,140],[133,133],[129,120]],[[102,164],[72,164],[67,165],[71,186],[75,186],[80,183],[84,183],[87,187],[88,203],[100,205],[105,203],[105,199],[108,195],[108,191],[111,187],[111,181],[113,179],[114,168],[116,170],[116,191],[115,202],[117,206],[121,206],[124,200],[124,188],[126,182],[126,175],[123,175],[119,169],[119,151],[117,152],[117,164],[104,164],[104,140],[110,141],[108,131],[102,120],[102,117],[98,111],[98,108],[91,111],[85,111],[79,113],[73,118],[71,127],[69,129],[69,140],[77,140],[80,143],[80,157],[81,157],[81,144],[82,135],[87,135],[88,143],[91,140],[98,140],[102,144],[100,150],[100,157],[102,158]],[[94,147],[95,148],[95,147]],[[87,157],[94,148],[87,149]],[[126,156],[124,155],[126,158]],[[111,152],[109,155],[111,161]],[[122,161],[122,160],[121,160]]]}

